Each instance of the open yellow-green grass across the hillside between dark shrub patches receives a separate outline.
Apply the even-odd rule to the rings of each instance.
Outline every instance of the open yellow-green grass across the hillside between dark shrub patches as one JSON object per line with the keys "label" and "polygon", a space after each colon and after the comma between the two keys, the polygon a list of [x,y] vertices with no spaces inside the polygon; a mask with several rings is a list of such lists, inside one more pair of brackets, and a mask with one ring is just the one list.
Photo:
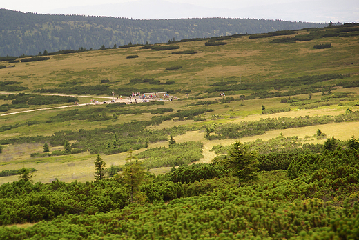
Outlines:
{"label": "open yellow-green grass across the hillside between dark shrub patches", "polygon": [[[308,34],[306,30],[298,31],[298,34]],[[294,37],[294,36],[287,36]],[[107,128],[122,123],[150,120],[154,115],[146,112],[157,108],[173,108],[173,112],[158,114],[158,116],[170,116],[177,110],[191,110],[197,108],[211,108],[213,112],[205,112],[200,117],[203,121],[193,119],[173,119],[162,121],[159,125],[147,126],[147,130],[162,130],[173,126],[186,126],[195,130],[188,130],[184,134],[174,136],[177,143],[186,141],[201,141],[204,144],[203,158],[200,162],[210,163],[215,154],[211,148],[217,144],[227,146],[234,141],[254,141],[255,139],[269,140],[278,137],[281,133],[285,137],[298,136],[305,143],[323,143],[326,139],[311,137],[320,129],[327,137],[335,137],[347,140],[353,135],[359,137],[358,121],[343,121],[341,123],[329,123],[320,126],[305,126],[302,128],[287,128],[267,131],[265,134],[244,137],[242,139],[207,140],[204,138],[204,129],[213,124],[240,123],[242,121],[259,121],[265,118],[280,117],[304,117],[304,116],[338,116],[345,114],[347,108],[353,112],[359,110],[359,89],[342,88],[336,86],[340,82],[359,81],[359,37],[327,37],[311,41],[298,41],[296,43],[270,43],[273,39],[249,39],[249,36],[233,37],[225,40],[223,46],[205,46],[206,41],[179,42],[179,50],[194,50],[196,54],[172,54],[173,50],[155,51],[141,49],[140,47],[93,50],[76,54],[62,54],[50,56],[47,61],[35,61],[30,63],[16,63],[14,68],[0,70],[0,81],[17,81],[19,86],[27,87],[23,90],[26,94],[38,89],[50,89],[71,82],[79,82],[80,86],[109,86],[107,94],[95,95],[82,93],[79,103],[89,103],[90,99],[99,97],[112,98],[112,91],[126,88],[132,92],[161,88],[171,90],[173,96],[179,98],[174,101],[164,101],[164,105],[148,105],[146,103],[124,106],[125,110],[138,110],[139,113],[119,114],[117,121],[111,119],[104,121],[86,121],[73,119],[70,121],[52,121],[59,114],[66,114],[77,109],[81,112],[89,110],[104,110],[106,106],[74,106],[71,108],[55,108],[34,112],[23,112],[10,115],[1,115],[22,110],[38,108],[51,108],[57,106],[70,106],[72,103],[49,104],[46,106],[30,106],[29,108],[11,108],[8,112],[1,112],[0,127],[14,126],[17,128],[3,130],[0,139],[12,139],[15,137],[52,136],[59,131],[94,130]],[[331,43],[331,48],[315,49],[316,44]],[[138,55],[138,58],[126,59],[126,56]],[[182,66],[177,70],[166,70],[168,67]],[[235,81],[237,84],[252,83],[253,86],[262,86],[269,81],[287,78],[299,78],[321,74],[345,74],[344,79],[330,79],[313,83],[313,87],[327,89],[332,86],[332,92],[345,92],[347,97],[340,99],[340,103],[333,103],[318,108],[300,109],[289,103],[281,103],[284,97],[271,97],[264,99],[244,99],[242,101],[230,101],[208,105],[195,105],[199,101],[221,101],[221,92],[211,92],[213,84],[225,84]],[[130,83],[131,79],[149,78],[159,80],[161,84]],[[109,83],[101,83],[101,80],[109,80]],[[166,81],[175,81],[174,84],[165,84]],[[280,90],[274,88],[270,92],[285,92],[287,90],[300,90],[308,87],[298,82],[298,85],[286,86]],[[323,90],[324,91],[324,90]],[[4,92],[3,94],[18,94],[19,92]],[[249,96],[256,92],[253,89],[226,91],[226,97],[238,99],[241,95]],[[327,90],[325,90],[327,92]],[[188,99],[185,93],[189,93]],[[128,96],[122,92],[115,92],[115,96]],[[296,98],[308,98],[308,94],[296,94]],[[313,92],[312,99],[320,100],[322,92]],[[101,101],[101,100],[99,100]],[[103,100],[102,100],[103,101]],[[10,100],[0,99],[0,105],[11,104]],[[265,108],[289,107],[289,112],[274,114],[262,114],[262,106]],[[109,113],[107,113],[109,114]],[[157,115],[156,115],[157,116]],[[34,124],[28,124],[32,121]],[[166,136],[169,138],[169,136]],[[97,139],[90,141],[96,142]],[[72,143],[75,141],[72,141]],[[168,141],[149,143],[148,148],[168,146]],[[0,154],[0,170],[12,170],[22,167],[36,168],[33,178],[35,182],[48,183],[59,179],[60,181],[92,181],[95,172],[94,164],[96,155],[89,151],[77,154],[30,157],[30,154],[42,152],[43,143],[4,144]],[[50,146],[50,152],[62,150],[62,146]],[[135,150],[142,152],[144,148]],[[106,167],[123,165],[126,162],[126,152],[117,154],[101,154],[106,161]],[[154,173],[168,172],[171,168],[151,169]],[[0,184],[17,181],[17,176],[0,177]]]}

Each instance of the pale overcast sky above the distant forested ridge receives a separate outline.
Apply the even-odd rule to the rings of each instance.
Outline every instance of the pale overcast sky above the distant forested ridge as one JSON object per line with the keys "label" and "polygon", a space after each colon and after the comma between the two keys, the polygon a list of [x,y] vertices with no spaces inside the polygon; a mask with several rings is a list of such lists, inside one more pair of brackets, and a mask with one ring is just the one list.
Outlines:
{"label": "pale overcast sky above the distant forested ridge", "polygon": [[1,0],[0,8],[133,19],[231,17],[316,23],[359,22],[358,0]]}

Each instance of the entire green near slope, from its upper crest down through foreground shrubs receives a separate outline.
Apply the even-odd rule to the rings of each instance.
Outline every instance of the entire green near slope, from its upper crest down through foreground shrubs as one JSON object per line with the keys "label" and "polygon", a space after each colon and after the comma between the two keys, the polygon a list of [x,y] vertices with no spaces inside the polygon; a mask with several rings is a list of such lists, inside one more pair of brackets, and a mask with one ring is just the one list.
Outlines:
{"label": "entire green near slope, from its upper crest down through foreground shrubs", "polygon": [[358,239],[358,30],[3,59],[0,236]]}

